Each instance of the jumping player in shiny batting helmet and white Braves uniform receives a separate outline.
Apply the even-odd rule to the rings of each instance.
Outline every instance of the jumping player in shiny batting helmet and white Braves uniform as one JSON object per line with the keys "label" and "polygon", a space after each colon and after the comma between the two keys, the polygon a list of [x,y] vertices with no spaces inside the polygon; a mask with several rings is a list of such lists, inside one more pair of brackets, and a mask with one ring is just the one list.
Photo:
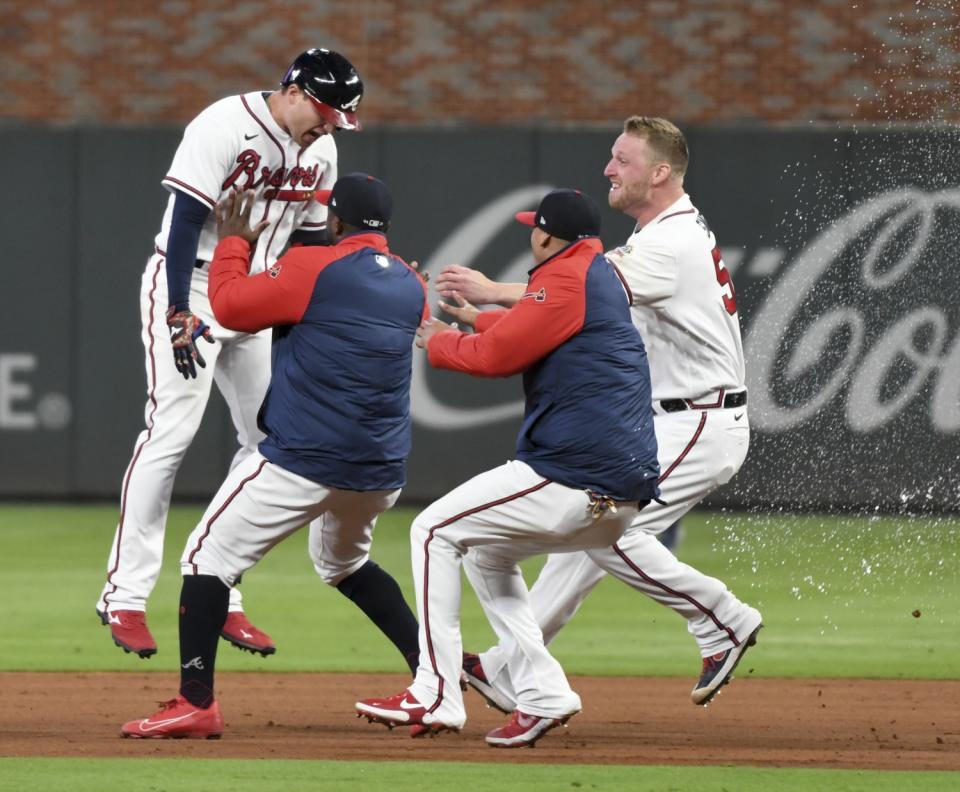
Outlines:
{"label": "jumping player in shiny batting helmet and white Braves uniform", "polygon": [[[203,110],[188,124],[162,180],[170,196],[140,293],[146,427],[123,477],[120,519],[97,601],[114,642],[140,657],[157,651],[146,622],[147,598],[160,573],[174,478],[214,383],[240,446],[231,469],[263,439],[257,410],[270,378],[270,334],[227,329],[213,317],[207,297],[217,244],[212,210],[235,191],[252,193],[253,216],[264,224],[251,253],[254,275],[269,269],[290,242],[325,243],[326,207],[313,196],[337,178],[331,133],[359,128],[363,83],[342,55],[308,50],[280,85]],[[222,635],[248,651],[275,651],[244,615],[236,588]]]}

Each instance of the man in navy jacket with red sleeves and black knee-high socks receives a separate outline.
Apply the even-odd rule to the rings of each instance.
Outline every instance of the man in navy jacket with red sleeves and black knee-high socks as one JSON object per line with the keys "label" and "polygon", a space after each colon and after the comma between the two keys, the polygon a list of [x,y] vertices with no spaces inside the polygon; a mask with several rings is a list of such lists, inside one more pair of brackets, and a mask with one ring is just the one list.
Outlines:
{"label": "man in navy jacket with red sleeves and black knee-high socks", "polygon": [[250,333],[275,328],[258,417],[266,439],[230,473],[187,540],[179,695],[124,724],[124,736],[220,736],[214,663],[228,587],[307,523],[323,580],[416,667],[416,619],[369,552],[377,518],[405,483],[411,356],[429,316],[426,288],[387,246],[393,202],[383,182],[348,174],[316,198],[329,208],[333,244],[292,248],[253,276],[251,244],[265,224],[250,228],[252,199],[233,195],[217,207],[209,281],[217,321]]}

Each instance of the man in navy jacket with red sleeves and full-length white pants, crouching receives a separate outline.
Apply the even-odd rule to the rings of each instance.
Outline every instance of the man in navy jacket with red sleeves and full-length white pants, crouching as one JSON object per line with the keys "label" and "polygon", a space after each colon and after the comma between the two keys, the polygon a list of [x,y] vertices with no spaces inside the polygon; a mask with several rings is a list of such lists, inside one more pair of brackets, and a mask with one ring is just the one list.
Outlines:
{"label": "man in navy jacket with red sleeves and full-length white pants, crouching", "polygon": [[[411,530],[420,612],[420,667],[407,690],[357,703],[372,720],[407,723],[414,736],[460,729],[460,566],[503,644],[514,648],[517,709],[491,745],[530,745],[580,710],[543,644],[517,561],[606,548],[657,497],[647,355],[630,297],[604,257],[600,211],[579,190],[555,190],[532,226],[534,267],[509,310],[475,317],[476,333],[436,320],[420,329],[431,365],[482,377],[523,372],[526,396],[516,458],[428,506]],[[516,669],[516,670],[514,670]]]}

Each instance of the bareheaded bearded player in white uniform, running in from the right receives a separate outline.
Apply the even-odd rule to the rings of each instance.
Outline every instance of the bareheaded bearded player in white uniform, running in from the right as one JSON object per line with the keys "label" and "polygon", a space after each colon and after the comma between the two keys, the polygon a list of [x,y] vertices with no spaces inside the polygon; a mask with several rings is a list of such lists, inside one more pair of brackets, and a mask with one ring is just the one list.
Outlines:
{"label": "bareheaded bearded player in white uniform, running in from the right", "polygon": [[[530,591],[549,643],[610,573],[686,619],[700,649],[694,704],[707,704],[731,678],[762,623],[724,583],[681,563],[659,541],[666,530],[740,469],[750,430],[737,298],[706,220],[683,187],[689,151],[662,118],[633,116],[604,169],[608,202],[636,221],[626,244],[606,254],[632,293],[632,316],[650,359],[660,500],[641,511],[604,552],[551,555]],[[444,268],[437,289],[461,323],[470,303],[511,305],[522,284],[500,284],[462,266]],[[479,576],[468,556],[470,579]],[[509,712],[517,699],[511,647],[464,656],[470,684]]]}

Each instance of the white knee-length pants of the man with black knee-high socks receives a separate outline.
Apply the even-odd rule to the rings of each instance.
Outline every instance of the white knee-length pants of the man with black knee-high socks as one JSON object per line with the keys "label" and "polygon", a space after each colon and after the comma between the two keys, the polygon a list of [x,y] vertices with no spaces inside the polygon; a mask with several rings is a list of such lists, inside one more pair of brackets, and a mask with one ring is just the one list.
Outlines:
{"label": "white knee-length pants of the man with black knee-high socks", "polygon": [[181,571],[235,586],[272,547],[310,523],[310,559],[336,586],[370,558],[377,518],[399,495],[399,489],[326,487],[255,451],[230,472],[187,538]]}

